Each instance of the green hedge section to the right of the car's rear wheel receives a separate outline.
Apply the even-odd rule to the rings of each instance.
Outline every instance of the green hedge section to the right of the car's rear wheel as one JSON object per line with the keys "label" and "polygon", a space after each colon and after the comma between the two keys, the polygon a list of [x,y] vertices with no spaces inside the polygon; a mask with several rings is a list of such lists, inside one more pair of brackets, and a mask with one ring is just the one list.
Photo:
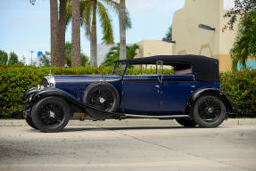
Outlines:
{"label": "green hedge section to the right of the car's rear wheel", "polygon": [[256,117],[256,69],[220,73],[220,89],[235,108],[235,117]]}

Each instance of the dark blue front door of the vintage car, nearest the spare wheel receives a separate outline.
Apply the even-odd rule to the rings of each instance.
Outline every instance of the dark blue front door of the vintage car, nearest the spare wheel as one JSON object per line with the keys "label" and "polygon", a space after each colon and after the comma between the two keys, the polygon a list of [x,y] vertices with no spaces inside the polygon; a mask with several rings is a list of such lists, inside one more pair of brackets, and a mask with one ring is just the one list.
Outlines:
{"label": "dark blue front door of the vintage car, nearest the spare wheel", "polygon": [[123,77],[123,112],[155,114],[160,109],[160,82],[157,75]]}

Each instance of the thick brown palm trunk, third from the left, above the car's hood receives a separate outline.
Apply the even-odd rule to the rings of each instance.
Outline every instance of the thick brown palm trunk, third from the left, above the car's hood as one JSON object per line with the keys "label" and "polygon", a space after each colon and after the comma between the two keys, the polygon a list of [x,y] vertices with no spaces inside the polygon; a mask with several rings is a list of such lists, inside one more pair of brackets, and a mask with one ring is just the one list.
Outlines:
{"label": "thick brown palm trunk, third from the left, above the car's hood", "polygon": [[71,65],[79,67],[81,65],[80,58],[80,1],[72,0],[72,45],[71,45]]}

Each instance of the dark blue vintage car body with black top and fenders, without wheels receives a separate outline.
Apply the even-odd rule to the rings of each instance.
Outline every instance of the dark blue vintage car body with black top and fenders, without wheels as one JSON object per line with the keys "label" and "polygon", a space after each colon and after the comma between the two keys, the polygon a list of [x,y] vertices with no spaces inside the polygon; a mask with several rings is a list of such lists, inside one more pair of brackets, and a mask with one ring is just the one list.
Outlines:
{"label": "dark blue vintage car body with black top and fenders, without wheels", "polygon": [[[129,65],[154,65],[157,62],[161,63],[161,74],[126,74]],[[112,114],[111,117],[114,118],[193,118],[192,108],[203,94],[217,96],[224,103],[227,114],[233,111],[226,95],[219,90],[219,61],[216,59],[197,55],[153,56],[116,61],[115,64],[124,65],[119,75],[114,70],[111,76],[45,77],[44,86],[38,85],[37,88],[31,88],[24,94],[24,99],[29,98],[24,110],[25,118],[31,116],[31,108],[36,102],[49,96],[56,96],[66,101],[70,105],[71,116],[79,111],[106,113],[108,116]],[[178,72],[182,70],[190,70],[190,72],[163,74],[165,64],[170,64],[177,73],[182,73]],[[102,110],[85,102],[85,92],[95,83],[111,85],[117,91],[118,108]],[[97,115],[91,116],[98,119],[95,117]]]}

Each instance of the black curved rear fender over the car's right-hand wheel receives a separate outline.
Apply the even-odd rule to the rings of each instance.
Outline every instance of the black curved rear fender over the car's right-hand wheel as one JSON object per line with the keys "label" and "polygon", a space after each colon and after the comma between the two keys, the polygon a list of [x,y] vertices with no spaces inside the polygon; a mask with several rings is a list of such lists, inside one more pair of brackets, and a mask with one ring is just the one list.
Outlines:
{"label": "black curved rear fender over the car's right-hand wheel", "polygon": [[202,96],[202,94],[215,94],[217,95],[226,105],[227,108],[227,113],[232,114],[234,113],[233,107],[229,100],[227,99],[227,95],[221,92],[217,88],[211,88],[211,87],[206,87],[206,88],[200,88],[196,91],[194,91],[193,94],[190,95],[187,103],[186,103],[186,113],[188,113],[190,116],[192,115],[192,108],[194,103],[199,99],[199,97]]}

